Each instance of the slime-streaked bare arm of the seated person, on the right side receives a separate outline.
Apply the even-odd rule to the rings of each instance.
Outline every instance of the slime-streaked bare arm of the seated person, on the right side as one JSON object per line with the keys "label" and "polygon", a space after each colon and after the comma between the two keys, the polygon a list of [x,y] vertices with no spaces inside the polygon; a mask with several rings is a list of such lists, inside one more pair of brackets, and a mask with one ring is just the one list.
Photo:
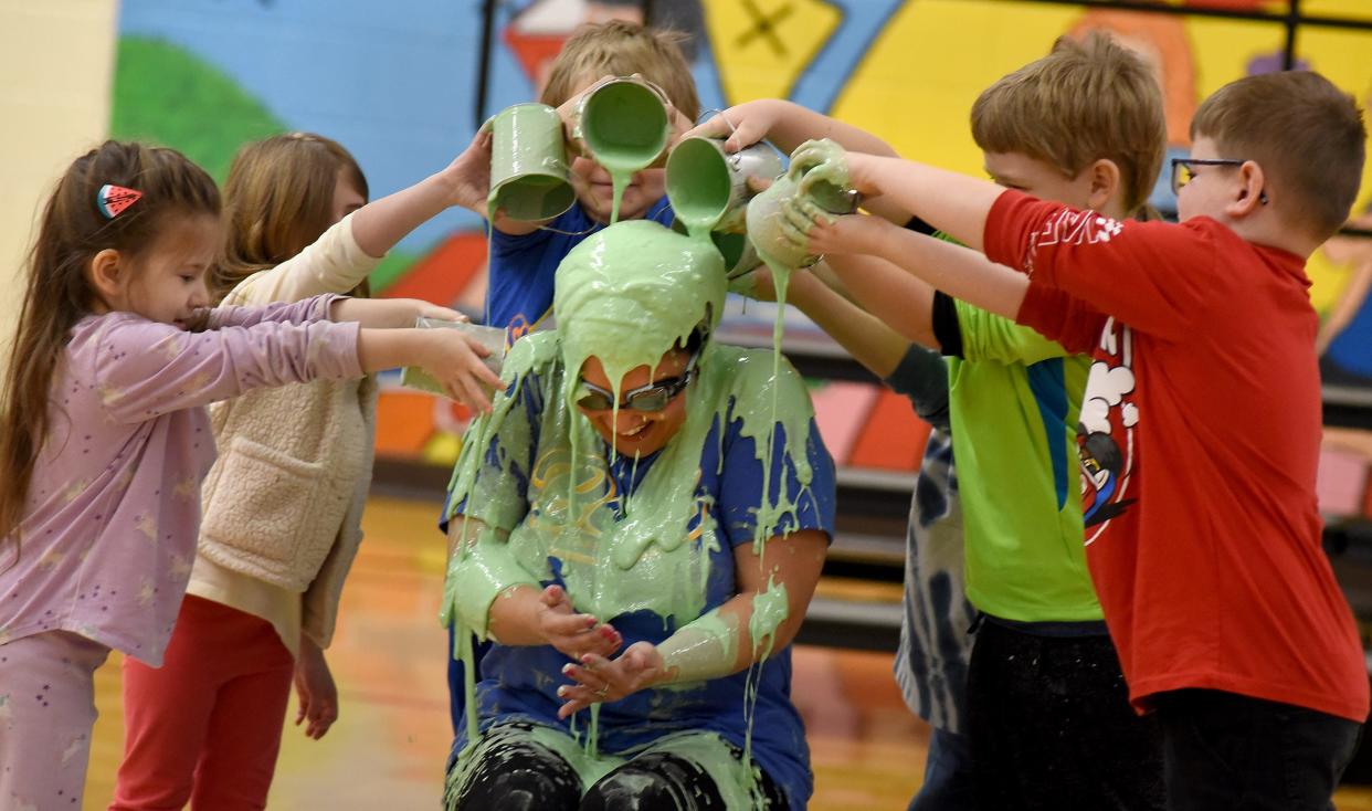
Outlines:
{"label": "slime-streaked bare arm of the seated person, on the right side", "polygon": [[704,681],[735,674],[796,638],[819,582],[829,537],[801,530],[763,545],[734,548],[738,594],[682,626],[657,650],[656,683]]}

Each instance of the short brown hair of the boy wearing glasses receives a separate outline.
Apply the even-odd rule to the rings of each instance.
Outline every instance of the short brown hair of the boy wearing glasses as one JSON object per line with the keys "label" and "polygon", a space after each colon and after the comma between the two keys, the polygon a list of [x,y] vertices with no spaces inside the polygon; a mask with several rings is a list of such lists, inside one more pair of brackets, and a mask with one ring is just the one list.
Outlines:
{"label": "short brown hair of the boy wearing glasses", "polygon": [[1224,85],[1196,110],[1191,137],[1261,166],[1276,210],[1321,242],[1343,225],[1358,195],[1362,111],[1317,73],[1265,73]]}

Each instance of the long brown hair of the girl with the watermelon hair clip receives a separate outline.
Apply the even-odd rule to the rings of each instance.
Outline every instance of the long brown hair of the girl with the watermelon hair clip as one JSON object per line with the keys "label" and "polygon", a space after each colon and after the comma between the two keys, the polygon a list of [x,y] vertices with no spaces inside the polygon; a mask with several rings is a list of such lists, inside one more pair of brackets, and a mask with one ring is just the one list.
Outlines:
{"label": "long brown hair of the girl with the watermelon hair clip", "polygon": [[[106,184],[143,198],[113,218],[100,211]],[[137,258],[170,220],[220,215],[214,180],[181,152],[106,141],[75,159],[43,209],[0,392],[0,542],[19,542],[33,467],[49,430],[49,397],[71,328],[92,310],[91,259],[106,248]]]}

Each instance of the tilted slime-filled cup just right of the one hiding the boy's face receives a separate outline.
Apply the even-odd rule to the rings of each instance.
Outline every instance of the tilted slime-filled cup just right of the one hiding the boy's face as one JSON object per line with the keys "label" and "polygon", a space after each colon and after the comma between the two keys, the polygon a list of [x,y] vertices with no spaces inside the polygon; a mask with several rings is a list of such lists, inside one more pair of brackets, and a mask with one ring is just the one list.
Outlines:
{"label": "tilted slime-filled cup just right of the one hiding the boy's face", "polygon": [[667,156],[667,198],[689,228],[741,232],[753,192],[749,177],[777,178],[781,155],[767,144],[724,152],[719,139],[683,139]]}

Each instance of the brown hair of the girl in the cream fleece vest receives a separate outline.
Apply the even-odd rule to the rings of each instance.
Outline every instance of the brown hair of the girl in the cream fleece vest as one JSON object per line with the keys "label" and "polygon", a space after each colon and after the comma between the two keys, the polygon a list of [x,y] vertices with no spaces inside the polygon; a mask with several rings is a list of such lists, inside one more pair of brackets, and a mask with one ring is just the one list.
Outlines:
{"label": "brown hair of the girl in the cream fleece vest", "polygon": [[[339,173],[362,199],[366,177],[342,144],[294,132],[247,144],[233,156],[224,183],[228,237],[211,295],[224,298],[237,283],[299,254],[333,225]],[[362,283],[365,294],[365,281]]]}

